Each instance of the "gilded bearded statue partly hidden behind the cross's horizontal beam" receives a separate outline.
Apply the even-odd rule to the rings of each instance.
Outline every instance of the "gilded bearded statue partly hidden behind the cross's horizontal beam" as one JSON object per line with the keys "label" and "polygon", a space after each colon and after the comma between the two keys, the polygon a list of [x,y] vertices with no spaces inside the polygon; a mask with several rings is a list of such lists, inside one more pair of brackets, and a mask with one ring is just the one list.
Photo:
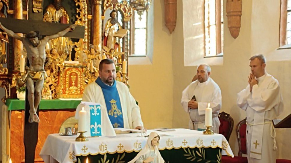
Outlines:
{"label": "gilded bearded statue partly hidden behind the cross's horizontal beam", "polygon": [[[62,0],[54,0],[53,4],[47,6],[46,12],[43,15],[43,21],[54,23],[69,23],[69,15],[62,7]],[[49,49],[55,48],[58,52],[68,54],[68,37],[59,37],[49,41]]]}

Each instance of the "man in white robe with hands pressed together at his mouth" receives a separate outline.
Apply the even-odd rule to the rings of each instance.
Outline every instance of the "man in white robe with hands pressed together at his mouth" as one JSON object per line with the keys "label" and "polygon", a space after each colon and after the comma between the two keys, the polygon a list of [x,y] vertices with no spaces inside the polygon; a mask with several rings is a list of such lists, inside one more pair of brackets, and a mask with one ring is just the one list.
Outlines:
{"label": "man in white robe with hands pressed together at his mouth", "polygon": [[237,105],[246,111],[249,163],[276,162],[276,132],[272,119],[283,112],[278,81],[265,72],[263,55],[250,58],[248,85],[237,94]]}

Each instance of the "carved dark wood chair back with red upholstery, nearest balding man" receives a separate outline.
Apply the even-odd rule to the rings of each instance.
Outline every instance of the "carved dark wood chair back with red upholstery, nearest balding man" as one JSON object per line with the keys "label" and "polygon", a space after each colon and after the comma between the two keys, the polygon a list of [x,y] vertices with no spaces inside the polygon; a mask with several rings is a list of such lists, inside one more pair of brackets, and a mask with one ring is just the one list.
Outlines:
{"label": "carved dark wood chair back with red upholstery, nearest balding man", "polygon": [[230,134],[233,131],[233,118],[224,111],[219,113],[218,118],[220,121],[219,133],[223,135],[228,141],[230,138]]}

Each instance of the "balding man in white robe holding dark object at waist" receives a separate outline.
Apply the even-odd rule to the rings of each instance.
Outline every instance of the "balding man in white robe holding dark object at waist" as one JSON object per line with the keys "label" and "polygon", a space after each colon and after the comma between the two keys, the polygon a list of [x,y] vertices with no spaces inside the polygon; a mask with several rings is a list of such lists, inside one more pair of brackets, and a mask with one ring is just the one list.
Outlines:
{"label": "balding man in white robe holding dark object at waist", "polygon": [[202,131],[206,129],[205,109],[208,103],[212,108],[212,125],[214,133],[219,133],[218,119],[221,109],[221,90],[210,78],[211,68],[207,64],[197,67],[197,80],[192,82],[182,93],[181,104],[190,115],[189,128]]}

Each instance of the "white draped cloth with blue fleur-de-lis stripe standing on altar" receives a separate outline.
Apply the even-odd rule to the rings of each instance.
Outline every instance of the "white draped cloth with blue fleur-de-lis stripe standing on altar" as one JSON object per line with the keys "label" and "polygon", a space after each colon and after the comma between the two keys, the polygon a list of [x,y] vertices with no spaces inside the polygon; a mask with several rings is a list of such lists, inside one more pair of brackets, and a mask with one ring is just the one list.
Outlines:
{"label": "white draped cloth with blue fleur-de-lis stripe standing on altar", "polygon": [[107,110],[104,106],[94,102],[81,101],[77,106],[75,118],[79,119],[79,111],[84,107],[86,111],[86,133],[87,137],[94,136],[116,136]]}

